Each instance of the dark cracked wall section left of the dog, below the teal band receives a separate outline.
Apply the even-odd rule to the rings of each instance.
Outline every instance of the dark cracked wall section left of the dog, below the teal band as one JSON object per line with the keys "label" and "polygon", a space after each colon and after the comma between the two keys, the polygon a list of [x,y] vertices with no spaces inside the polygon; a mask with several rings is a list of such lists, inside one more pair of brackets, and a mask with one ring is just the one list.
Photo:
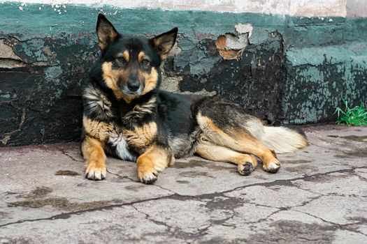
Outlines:
{"label": "dark cracked wall section left of the dog, below the teal band", "polygon": [[80,137],[80,88],[97,49],[93,40],[80,49],[87,36],[67,38],[2,39],[3,49],[13,49],[6,59],[21,61],[0,68],[0,145]]}

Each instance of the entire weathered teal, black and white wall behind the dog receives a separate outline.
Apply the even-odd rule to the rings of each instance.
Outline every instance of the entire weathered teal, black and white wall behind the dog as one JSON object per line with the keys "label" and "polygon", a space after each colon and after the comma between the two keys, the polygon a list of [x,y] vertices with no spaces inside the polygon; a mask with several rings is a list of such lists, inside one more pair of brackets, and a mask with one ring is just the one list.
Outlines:
{"label": "entire weathered teal, black and white wall behind the dog", "polygon": [[335,121],[341,93],[367,100],[363,1],[27,2],[0,3],[1,146],[79,139],[98,13],[123,33],[179,27],[169,91],[220,94],[278,124]]}

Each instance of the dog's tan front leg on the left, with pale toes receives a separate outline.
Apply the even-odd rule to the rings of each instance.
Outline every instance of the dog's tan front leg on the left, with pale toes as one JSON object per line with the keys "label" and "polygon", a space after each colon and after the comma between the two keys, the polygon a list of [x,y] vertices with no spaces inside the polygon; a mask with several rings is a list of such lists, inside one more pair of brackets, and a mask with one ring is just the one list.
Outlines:
{"label": "dog's tan front leg on the left, with pale toes", "polygon": [[89,180],[103,180],[106,178],[106,155],[101,142],[92,137],[85,137],[82,142],[82,155],[87,163],[85,177]]}

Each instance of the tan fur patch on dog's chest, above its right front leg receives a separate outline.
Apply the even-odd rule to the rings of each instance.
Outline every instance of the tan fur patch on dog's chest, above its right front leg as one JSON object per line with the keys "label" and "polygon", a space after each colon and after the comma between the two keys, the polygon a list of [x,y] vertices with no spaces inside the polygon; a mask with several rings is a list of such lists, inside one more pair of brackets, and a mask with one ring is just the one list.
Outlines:
{"label": "tan fur patch on dog's chest, above its right front leg", "polygon": [[134,128],[134,130],[124,130],[124,137],[127,138],[127,142],[138,151],[143,151],[147,146],[150,146],[156,135],[157,124],[154,122],[146,123]]}

